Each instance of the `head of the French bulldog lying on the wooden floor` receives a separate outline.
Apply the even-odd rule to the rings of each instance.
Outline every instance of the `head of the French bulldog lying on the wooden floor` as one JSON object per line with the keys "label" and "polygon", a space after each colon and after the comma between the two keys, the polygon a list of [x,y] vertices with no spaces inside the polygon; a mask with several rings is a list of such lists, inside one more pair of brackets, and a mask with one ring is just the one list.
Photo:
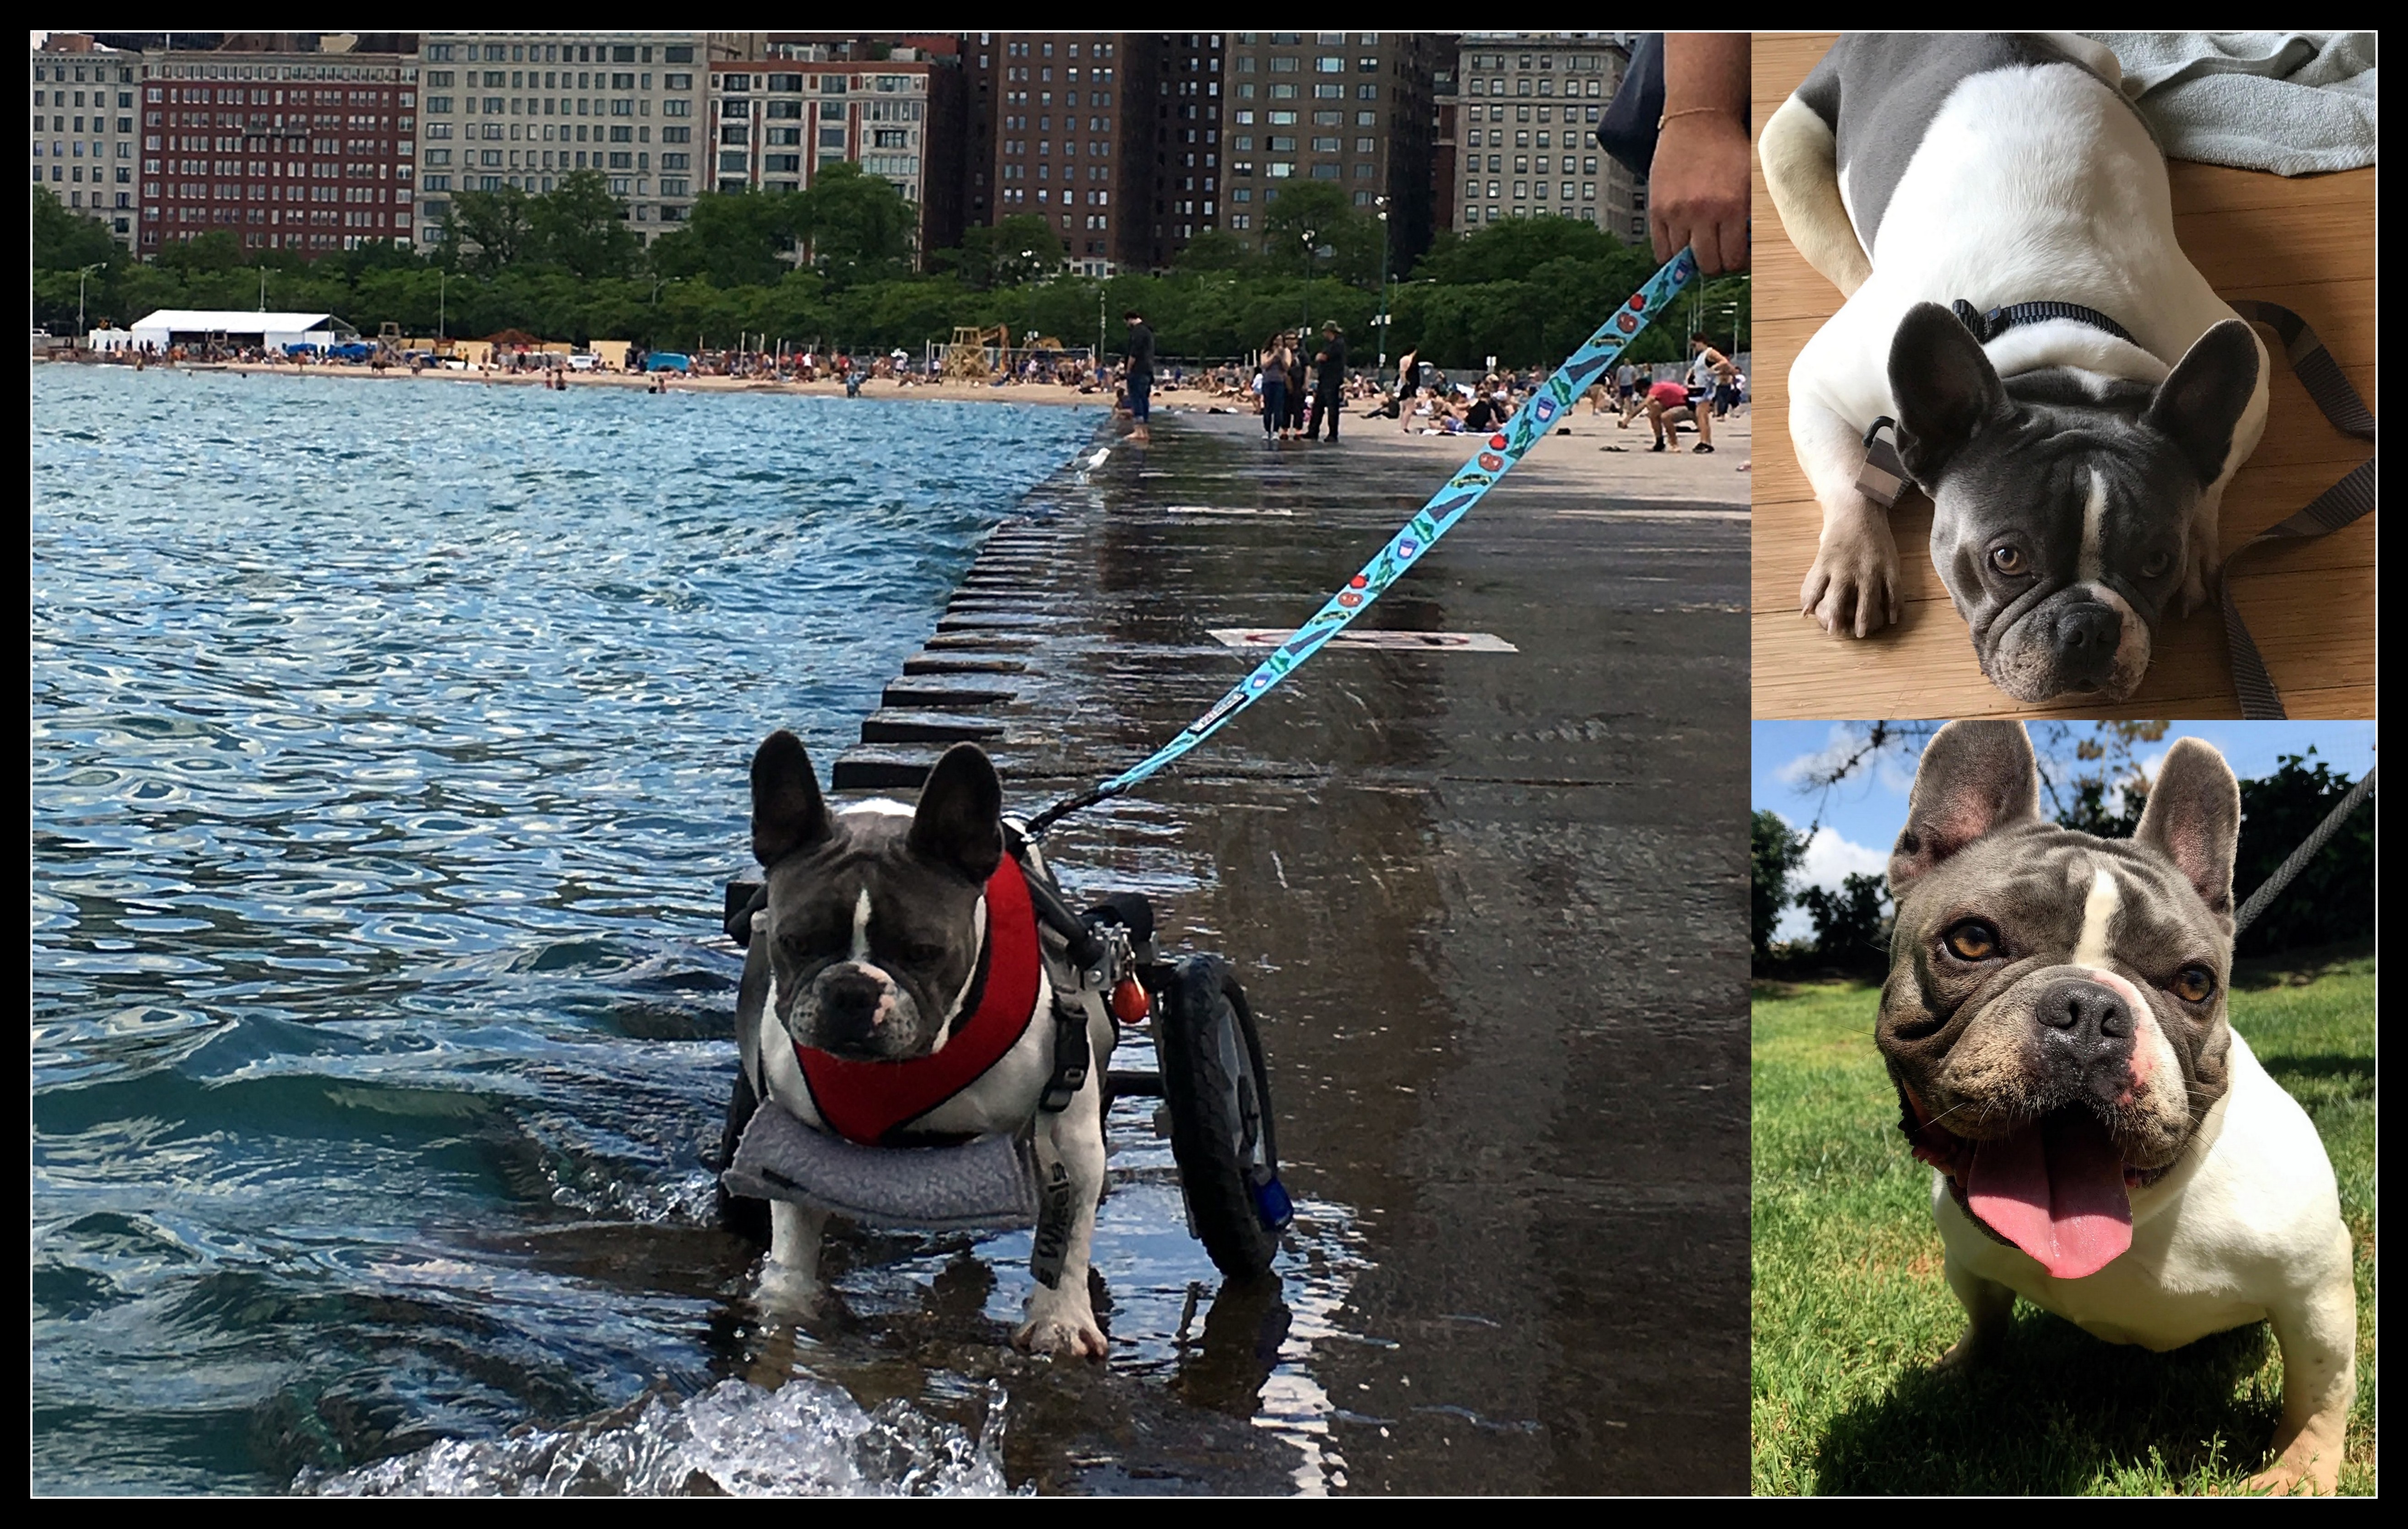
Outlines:
{"label": "head of the French bulldog lying on the wooden floor", "polygon": [[1991,684],[2018,701],[2138,689],[2254,388],[2242,320],[2153,388],[2073,368],[2001,380],[1953,313],[1907,313],[1890,344],[1898,448],[1931,496],[1931,563]]}

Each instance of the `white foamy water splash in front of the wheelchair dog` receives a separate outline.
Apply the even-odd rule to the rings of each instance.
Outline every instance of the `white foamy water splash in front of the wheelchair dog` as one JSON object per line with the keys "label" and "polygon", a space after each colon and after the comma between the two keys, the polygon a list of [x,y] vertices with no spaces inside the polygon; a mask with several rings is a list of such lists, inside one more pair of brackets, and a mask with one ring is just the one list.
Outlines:
{"label": "white foamy water splash in front of the wheelchair dog", "polygon": [[[616,1416],[626,1416],[624,1411]],[[725,1380],[648,1397],[631,1421],[443,1440],[352,1471],[301,1471],[325,1498],[992,1498],[1007,1495],[1004,1397],[970,1435],[908,1401],[864,1411],[840,1387]]]}

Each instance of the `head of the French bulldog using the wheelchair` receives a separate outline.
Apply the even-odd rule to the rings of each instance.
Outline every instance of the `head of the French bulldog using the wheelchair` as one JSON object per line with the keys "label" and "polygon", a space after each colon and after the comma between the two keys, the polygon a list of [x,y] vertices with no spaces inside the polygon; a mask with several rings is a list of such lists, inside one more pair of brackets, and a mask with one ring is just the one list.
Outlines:
{"label": "head of the French bulldog using the wheelchair", "polygon": [[1004,852],[1002,787],[970,744],[937,763],[913,814],[828,814],[802,742],[754,756],[754,855],[768,867],[773,1009],[795,1045],[903,1062],[944,1045],[985,934]]}

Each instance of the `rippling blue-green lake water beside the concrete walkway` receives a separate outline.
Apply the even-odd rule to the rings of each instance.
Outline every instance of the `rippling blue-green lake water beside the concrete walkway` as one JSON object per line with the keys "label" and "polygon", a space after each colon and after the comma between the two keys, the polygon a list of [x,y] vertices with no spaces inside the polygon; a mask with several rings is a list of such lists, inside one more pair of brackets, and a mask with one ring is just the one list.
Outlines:
{"label": "rippling blue-green lake water beside the concrete walkway", "polygon": [[[737,1385],[809,1356],[708,1228],[713,927],[751,746],[850,742],[1093,414],[31,385],[34,1486],[674,1486],[778,1409],[833,1464],[759,1481],[995,1486],[970,1375]],[[970,1348],[1026,1288],[886,1252]]]}

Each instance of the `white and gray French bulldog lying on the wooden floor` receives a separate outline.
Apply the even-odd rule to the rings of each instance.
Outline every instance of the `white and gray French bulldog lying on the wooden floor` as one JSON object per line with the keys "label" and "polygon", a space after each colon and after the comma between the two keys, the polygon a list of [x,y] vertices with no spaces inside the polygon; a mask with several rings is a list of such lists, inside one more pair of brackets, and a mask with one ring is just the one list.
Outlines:
{"label": "white and gray French bulldog lying on the wooden floor", "polygon": [[1760,142],[1782,229],[1847,294],[1789,371],[1823,506],[1801,609],[1859,638],[1900,616],[1888,508],[1859,489],[1895,419],[1982,674],[2028,703],[2131,696],[2266,429],[2266,349],[2182,253],[2119,79],[2071,34],[1852,34]]}

